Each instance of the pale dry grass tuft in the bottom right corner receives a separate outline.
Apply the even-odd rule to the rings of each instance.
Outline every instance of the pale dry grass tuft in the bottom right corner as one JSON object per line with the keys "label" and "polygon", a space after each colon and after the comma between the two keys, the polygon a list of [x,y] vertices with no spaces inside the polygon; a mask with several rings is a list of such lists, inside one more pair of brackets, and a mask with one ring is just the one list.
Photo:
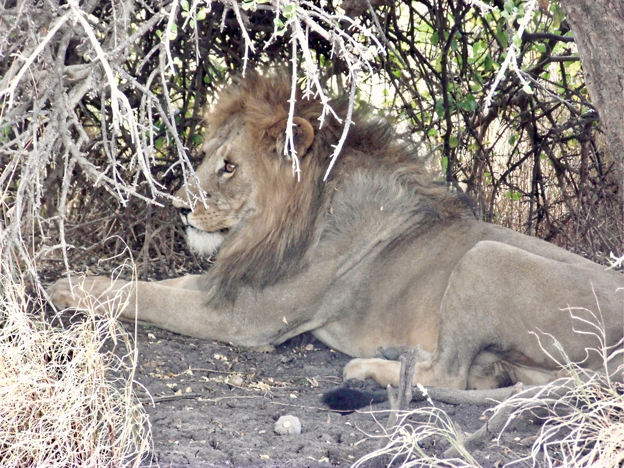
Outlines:
{"label": "pale dry grass tuft in the bottom right corner", "polygon": [[[509,421],[522,412],[542,412],[545,422],[537,434],[531,454],[534,466],[613,468],[624,465],[624,363],[623,340],[607,346],[607,333],[598,316],[591,324],[600,346],[589,349],[602,356],[603,369],[594,373],[571,363],[559,346],[569,377],[545,385],[534,396],[521,392],[501,403],[514,406]],[[584,310],[588,312],[587,310]],[[551,356],[552,357],[552,356]],[[544,411],[547,415],[544,416]],[[508,421],[508,422],[509,422]]]}

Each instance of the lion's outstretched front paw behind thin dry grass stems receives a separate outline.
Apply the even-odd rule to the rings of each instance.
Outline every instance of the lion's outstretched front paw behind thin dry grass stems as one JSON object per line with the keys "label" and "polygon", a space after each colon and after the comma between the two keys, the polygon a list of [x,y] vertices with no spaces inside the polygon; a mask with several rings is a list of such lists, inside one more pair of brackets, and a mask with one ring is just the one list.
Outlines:
{"label": "lion's outstretched front paw behind thin dry grass stems", "polygon": [[119,291],[127,281],[95,276],[94,278],[63,278],[47,288],[47,294],[54,306],[59,309],[95,310],[110,305],[116,299],[123,299]]}

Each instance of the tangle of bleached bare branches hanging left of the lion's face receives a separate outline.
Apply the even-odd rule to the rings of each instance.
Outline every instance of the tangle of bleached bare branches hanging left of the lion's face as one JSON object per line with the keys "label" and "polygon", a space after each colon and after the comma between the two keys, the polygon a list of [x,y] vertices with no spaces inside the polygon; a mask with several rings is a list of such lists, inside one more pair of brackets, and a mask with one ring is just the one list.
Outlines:
{"label": "tangle of bleached bare branches hanging left of the lion's face", "polygon": [[[168,113],[160,107],[158,99],[144,89],[149,99],[144,99],[145,112],[137,112],[130,104],[129,97],[122,84],[120,65],[127,59],[127,51],[135,41],[145,34],[153,34],[159,21],[167,17],[166,12],[154,14],[152,18],[140,24],[133,34],[127,34],[129,21],[129,4],[119,4],[118,12],[113,5],[114,21],[109,24],[107,34],[102,34],[102,24],[90,12],[97,2],[90,0],[79,3],[71,0],[55,9],[36,9],[34,18],[39,24],[30,21],[29,12],[34,8],[32,0],[22,0],[14,9],[3,10],[2,27],[0,27],[0,52],[11,42],[9,36],[16,29],[25,27],[32,29],[24,44],[24,52],[16,52],[8,72],[0,80],[0,127],[4,135],[11,138],[0,139],[0,155],[6,158],[7,164],[0,172],[0,203],[2,208],[11,205],[11,216],[2,219],[0,241],[2,241],[2,258],[6,261],[10,251],[19,253],[31,275],[36,277],[32,268],[31,258],[46,256],[60,249],[66,268],[67,250],[72,248],[65,240],[65,222],[67,210],[71,206],[67,200],[69,187],[74,183],[74,168],[80,168],[95,187],[102,186],[120,203],[127,203],[128,197],[138,197],[148,203],[161,205],[158,197],[172,198],[165,188],[152,176],[152,165],[149,155],[154,149],[154,125],[152,109],[155,107],[160,118],[165,122],[168,134],[177,143],[178,164],[182,166],[185,178],[193,175],[193,168],[186,149],[180,142],[175,124],[172,124],[172,109]],[[64,11],[66,10],[66,11]],[[169,18],[175,16],[170,14]],[[29,15],[31,13],[28,13]],[[175,23],[174,23],[175,24]],[[41,27],[45,36],[40,40]],[[83,37],[87,63],[66,65],[66,51],[72,37]],[[54,47],[58,48],[56,54]],[[161,45],[159,49],[167,47]],[[149,57],[146,57],[146,59]],[[159,57],[163,61],[162,57]],[[17,73],[14,70],[18,70]],[[135,83],[133,83],[135,84]],[[164,84],[164,83],[163,83]],[[84,119],[80,119],[77,108],[84,115],[84,104],[81,100],[85,95],[99,94],[102,109],[96,117],[101,121],[100,135],[88,131],[84,127]],[[144,95],[144,97],[145,97]],[[107,103],[107,104],[106,104]],[[109,106],[110,118],[105,105]],[[90,109],[94,110],[94,109]],[[7,132],[10,130],[10,132]],[[146,135],[149,134],[149,144]],[[119,141],[127,135],[131,145],[132,158],[129,165],[122,165],[117,160]],[[99,141],[98,141],[99,140]],[[84,153],[87,145],[104,150],[107,164],[95,165]],[[44,180],[49,177],[55,167],[61,168],[62,190],[57,201],[58,213],[55,216],[42,214],[42,206],[46,200],[43,192]],[[134,178],[129,183],[122,173],[134,171]],[[149,195],[140,190],[140,185],[147,184]],[[46,226],[56,223],[59,231],[57,245],[46,245]],[[39,250],[30,252],[24,249],[23,235],[29,227],[29,237],[39,230]]]}

